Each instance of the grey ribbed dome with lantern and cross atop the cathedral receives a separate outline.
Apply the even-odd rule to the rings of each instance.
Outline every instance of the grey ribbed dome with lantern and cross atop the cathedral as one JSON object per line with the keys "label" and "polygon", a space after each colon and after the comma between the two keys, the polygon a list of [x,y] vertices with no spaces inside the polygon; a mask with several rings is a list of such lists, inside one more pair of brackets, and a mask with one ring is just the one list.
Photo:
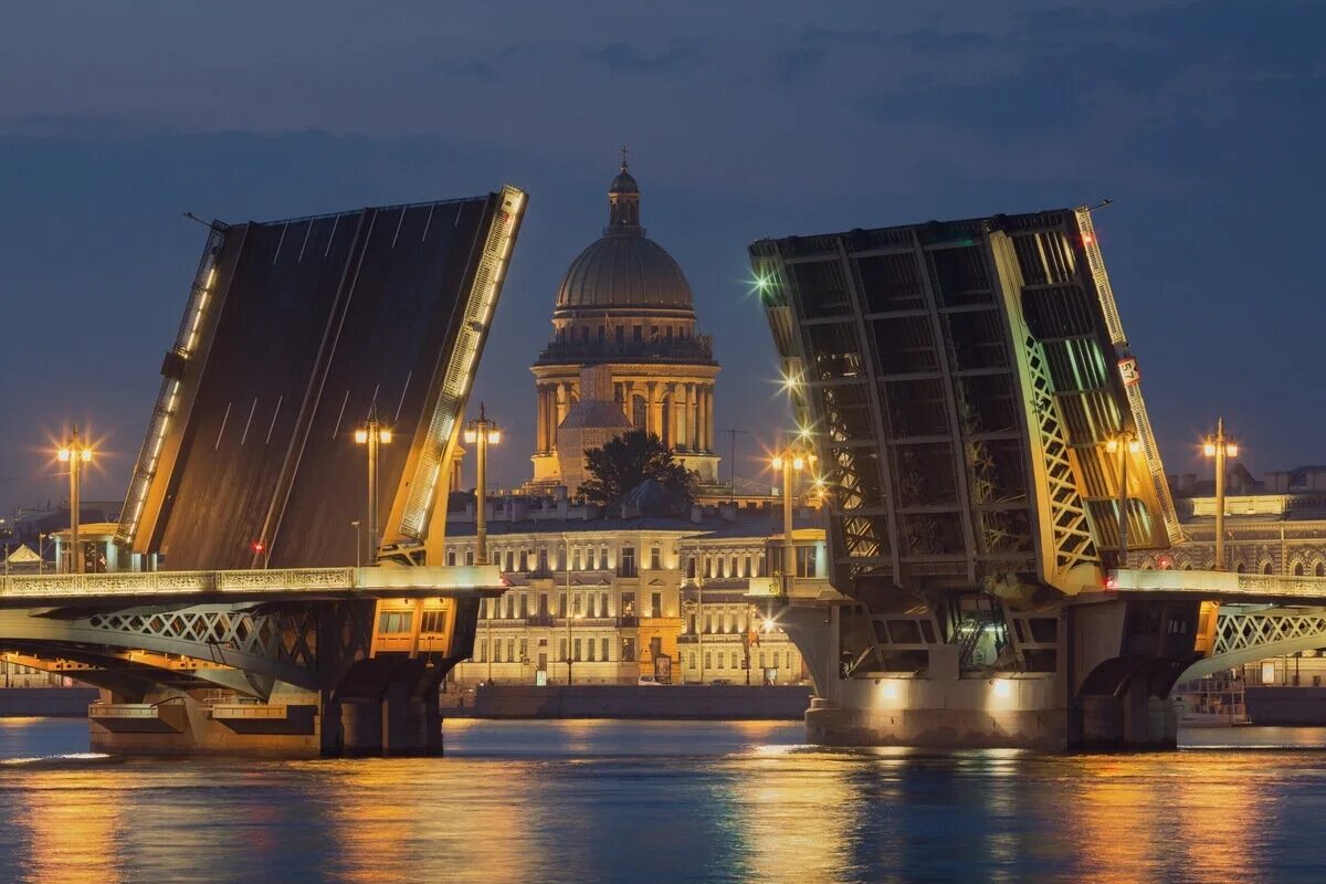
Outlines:
{"label": "grey ribbed dome with lantern and cross atop the cathedral", "polygon": [[622,170],[607,192],[609,224],[603,237],[575,256],[557,288],[558,310],[695,309],[691,285],[672,256],[644,236],[640,191]]}

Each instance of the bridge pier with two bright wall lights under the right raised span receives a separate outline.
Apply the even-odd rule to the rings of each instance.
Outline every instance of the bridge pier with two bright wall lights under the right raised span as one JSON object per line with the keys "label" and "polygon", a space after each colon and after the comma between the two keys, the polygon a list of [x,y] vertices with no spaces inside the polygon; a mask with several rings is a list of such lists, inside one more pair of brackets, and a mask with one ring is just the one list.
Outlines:
{"label": "bridge pier with two bright wall lights under the right raised span", "polygon": [[1101,596],[1004,611],[1009,644],[980,664],[937,626],[911,630],[928,615],[794,603],[778,622],[814,679],[809,742],[1172,749],[1177,716],[1167,694],[1197,657],[1197,608]]}

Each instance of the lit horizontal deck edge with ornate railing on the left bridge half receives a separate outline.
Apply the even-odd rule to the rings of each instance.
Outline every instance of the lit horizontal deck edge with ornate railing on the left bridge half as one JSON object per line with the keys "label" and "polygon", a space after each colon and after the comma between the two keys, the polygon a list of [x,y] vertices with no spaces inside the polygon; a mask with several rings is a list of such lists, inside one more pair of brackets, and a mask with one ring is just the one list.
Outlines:
{"label": "lit horizontal deck edge with ornate railing on the left bridge half", "polygon": [[500,595],[496,566],[304,567],[252,571],[28,574],[0,578],[0,608],[151,603],[281,602],[308,598]]}

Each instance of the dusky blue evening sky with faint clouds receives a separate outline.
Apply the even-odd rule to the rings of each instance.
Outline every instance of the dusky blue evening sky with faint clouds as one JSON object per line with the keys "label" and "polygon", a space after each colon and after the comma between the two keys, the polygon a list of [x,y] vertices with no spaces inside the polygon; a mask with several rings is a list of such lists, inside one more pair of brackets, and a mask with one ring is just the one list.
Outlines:
{"label": "dusky blue evening sky with faint clouds", "polygon": [[[528,371],[630,146],[757,476],[786,423],[747,245],[1114,203],[1095,223],[1171,473],[1216,415],[1326,463],[1326,3],[84,3],[0,8],[0,510],[98,440],[122,498],[204,231],[475,195],[529,212],[472,410],[529,476]],[[725,470],[725,468],[724,468]]]}

